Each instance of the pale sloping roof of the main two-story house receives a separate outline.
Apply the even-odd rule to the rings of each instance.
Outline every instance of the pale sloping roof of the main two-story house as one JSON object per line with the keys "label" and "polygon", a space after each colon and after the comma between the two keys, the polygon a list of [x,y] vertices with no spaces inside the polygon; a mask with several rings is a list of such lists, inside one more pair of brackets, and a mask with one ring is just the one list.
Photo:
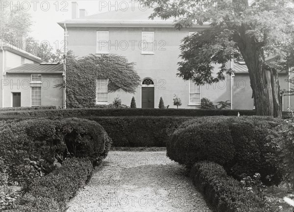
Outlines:
{"label": "pale sloping roof of the main two-story house", "polygon": [[[64,28],[66,26],[95,26],[95,27],[174,27],[174,20],[162,20],[155,17],[154,20],[148,19],[153,13],[153,8],[128,7],[126,9],[113,10],[105,13],[98,13],[83,18],[72,19],[58,22]],[[209,27],[208,23],[195,25],[196,27]]]}

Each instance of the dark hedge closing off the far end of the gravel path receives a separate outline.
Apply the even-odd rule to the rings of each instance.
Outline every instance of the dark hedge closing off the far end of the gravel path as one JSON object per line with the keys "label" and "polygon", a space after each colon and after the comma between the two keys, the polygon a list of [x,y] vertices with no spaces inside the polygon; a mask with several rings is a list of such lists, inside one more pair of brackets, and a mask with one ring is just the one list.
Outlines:
{"label": "dark hedge closing off the far end of the gravel path", "polygon": [[166,147],[172,132],[191,117],[89,117],[98,122],[114,147]]}

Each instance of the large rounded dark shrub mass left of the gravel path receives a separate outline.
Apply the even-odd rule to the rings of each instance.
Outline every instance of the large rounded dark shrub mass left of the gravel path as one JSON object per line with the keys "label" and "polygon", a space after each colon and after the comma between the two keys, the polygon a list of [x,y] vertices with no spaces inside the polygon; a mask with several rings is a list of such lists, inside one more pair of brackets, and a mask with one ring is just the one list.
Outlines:
{"label": "large rounded dark shrub mass left of the gravel path", "polygon": [[103,127],[86,119],[38,118],[4,125],[0,125],[0,155],[12,182],[29,184],[65,158],[89,158],[95,165],[110,149],[111,140]]}

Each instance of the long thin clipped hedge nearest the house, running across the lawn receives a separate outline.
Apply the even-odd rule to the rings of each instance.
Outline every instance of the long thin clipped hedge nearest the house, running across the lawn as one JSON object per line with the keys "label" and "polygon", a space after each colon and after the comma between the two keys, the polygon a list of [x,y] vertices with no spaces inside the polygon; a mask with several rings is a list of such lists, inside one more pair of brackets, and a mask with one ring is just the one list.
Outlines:
{"label": "long thin clipped hedge nearest the house, running across the lawn", "polygon": [[1,116],[252,116],[254,110],[159,109],[159,108],[84,108],[3,111]]}

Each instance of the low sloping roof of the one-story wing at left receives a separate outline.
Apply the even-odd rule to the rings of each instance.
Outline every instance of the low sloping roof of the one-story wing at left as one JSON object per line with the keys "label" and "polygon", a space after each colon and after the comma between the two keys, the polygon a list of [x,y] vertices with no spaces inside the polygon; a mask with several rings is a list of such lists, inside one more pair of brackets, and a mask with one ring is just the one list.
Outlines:
{"label": "low sloping roof of the one-story wing at left", "polygon": [[63,64],[22,64],[10,68],[6,73],[28,73],[28,74],[62,74]]}

